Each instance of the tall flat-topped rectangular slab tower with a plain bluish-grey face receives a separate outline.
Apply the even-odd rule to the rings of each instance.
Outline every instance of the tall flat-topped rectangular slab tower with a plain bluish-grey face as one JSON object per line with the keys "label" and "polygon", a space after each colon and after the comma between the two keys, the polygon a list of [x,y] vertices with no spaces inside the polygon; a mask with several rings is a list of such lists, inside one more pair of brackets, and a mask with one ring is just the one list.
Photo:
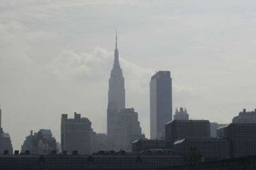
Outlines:
{"label": "tall flat-topped rectangular slab tower with a plain bluish-grey face", "polygon": [[171,120],[171,72],[158,71],[150,81],[150,139],[164,139],[164,125]]}

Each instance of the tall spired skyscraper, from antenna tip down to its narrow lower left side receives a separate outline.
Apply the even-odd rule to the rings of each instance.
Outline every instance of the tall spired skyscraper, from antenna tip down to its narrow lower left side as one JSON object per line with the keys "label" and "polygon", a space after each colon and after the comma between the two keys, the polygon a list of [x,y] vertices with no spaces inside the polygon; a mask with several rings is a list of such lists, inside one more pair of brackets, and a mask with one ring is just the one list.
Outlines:
{"label": "tall spired skyscraper, from antenna tip down to its narrow lower left side", "polygon": [[113,136],[115,134],[118,112],[123,108],[125,108],[124,76],[119,64],[116,36],[115,60],[109,78],[108,90],[107,134],[110,149],[113,148]]}

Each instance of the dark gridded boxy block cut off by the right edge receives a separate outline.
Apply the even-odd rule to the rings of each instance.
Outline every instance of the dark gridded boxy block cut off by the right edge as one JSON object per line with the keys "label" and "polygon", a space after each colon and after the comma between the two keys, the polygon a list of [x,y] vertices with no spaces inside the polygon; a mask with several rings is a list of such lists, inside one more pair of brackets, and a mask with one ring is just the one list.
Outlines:
{"label": "dark gridded boxy block cut off by the right edge", "polygon": [[230,157],[256,154],[256,124],[228,124],[219,127],[217,135],[230,141]]}

